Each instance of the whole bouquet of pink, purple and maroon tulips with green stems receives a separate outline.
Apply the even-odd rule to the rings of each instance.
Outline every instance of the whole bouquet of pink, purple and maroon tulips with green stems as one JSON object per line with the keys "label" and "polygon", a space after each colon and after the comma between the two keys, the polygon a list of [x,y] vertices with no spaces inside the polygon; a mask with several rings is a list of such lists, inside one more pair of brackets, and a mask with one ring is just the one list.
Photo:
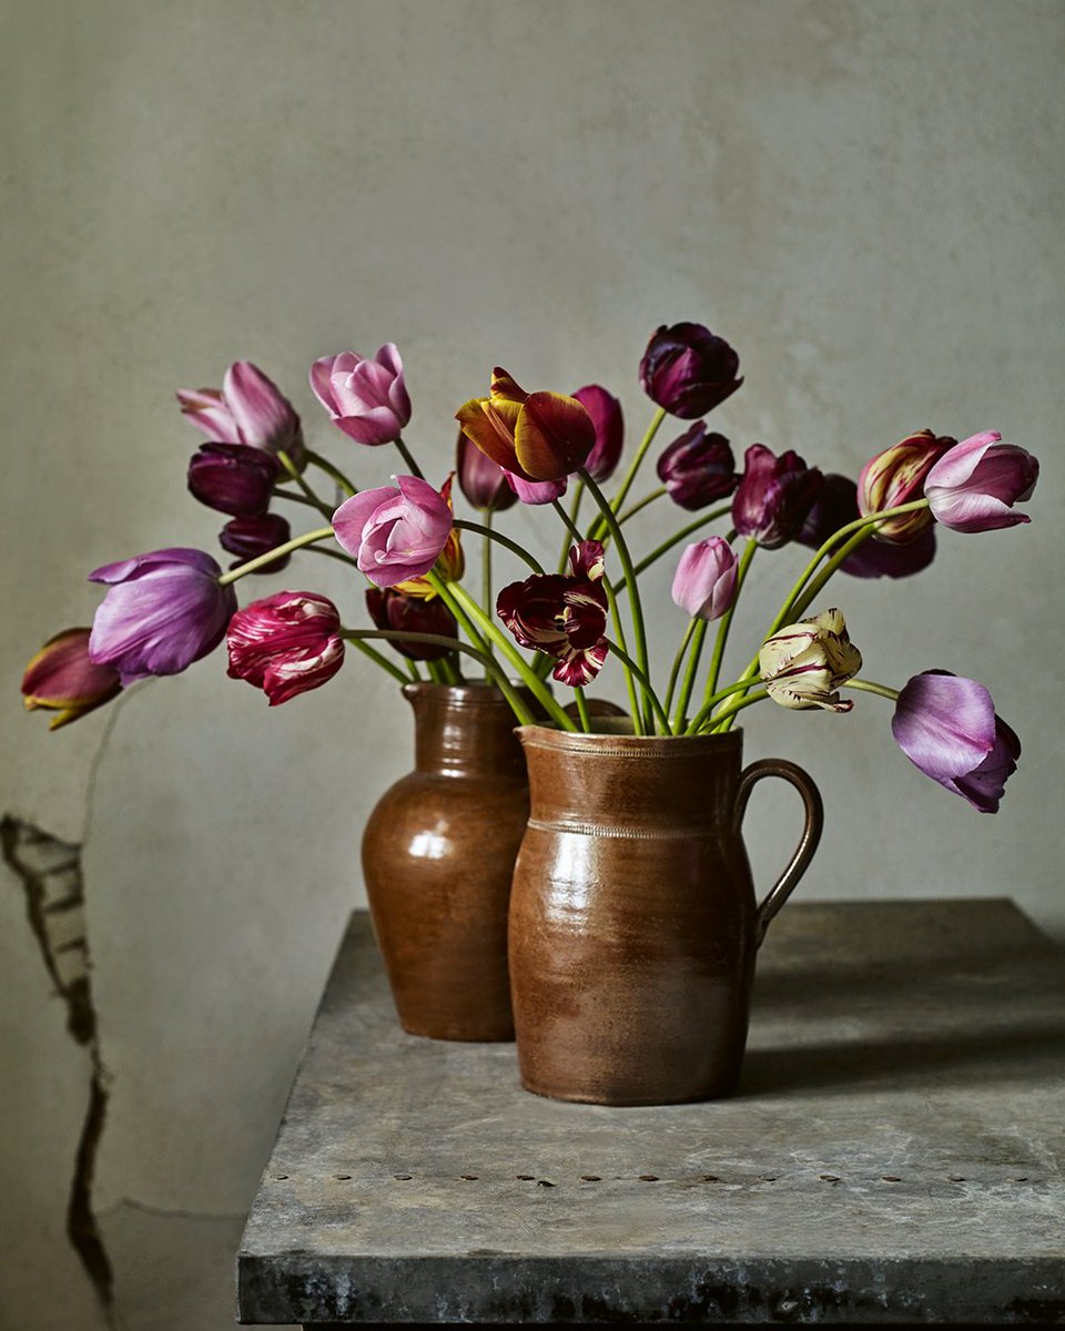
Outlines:
{"label": "whole bouquet of pink, purple and maroon tulips with green stems", "polygon": [[[747,447],[738,470],[730,441],[703,419],[743,383],[724,338],[698,323],[663,326],[639,381],[654,410],[610,496],[602,486],[620,467],[624,430],[618,399],[599,385],[529,393],[494,370],[487,394],[455,413],[454,470],[430,480],[403,438],[411,403],[397,347],[323,357],[310,387],[331,422],[355,447],[398,450],[402,470],[370,490],[306,446],[292,403],[250,362],[232,365],[221,389],[178,391],[181,411],[208,437],[189,463],[188,488],[228,518],[218,540],[234,563],[224,572],[201,550],[168,548],[89,574],[108,588],[92,627],[59,634],[33,658],[25,705],[53,711],[53,728],[64,725],[137,680],[184,671],[225,639],[229,675],[261,688],[270,705],[325,684],[350,646],[399,681],[461,683],[473,672],[506,695],[518,721],[532,721],[535,705],[540,723],[588,731],[598,708],[586,685],[612,662],[636,735],[723,732],[764,699],[841,713],[853,707],[844,688],[880,695],[895,704],[892,732],[909,759],[974,808],[996,812],[1020,743],[988,691],[939,669],[901,689],[860,677],[841,611],[817,602],[837,570],[901,578],[925,568],[937,528],[1028,522],[1014,504],[1032,494],[1036,459],[993,431],[957,442],[920,430],[873,457],[856,480],[761,443]],[[658,454],[658,484],[630,498],[670,418],[684,429]],[[479,520],[455,516],[455,478]],[[694,516],[638,558],[627,524],[663,499]],[[323,524],[293,536],[274,507],[285,503]],[[497,528],[497,516],[518,503],[551,510],[550,544],[558,550],[560,538],[562,548],[548,567]],[[707,534],[715,522],[723,531]],[[463,536],[481,542],[478,595],[463,583]],[[529,576],[495,591],[494,546],[521,559]],[[752,559],[787,546],[813,554],[752,640],[749,663],[726,681],[724,651]],[[238,606],[238,580],[276,575],[297,551],[351,567],[367,626],[345,626],[314,591]],[[687,626],[666,679],[656,680],[640,578],[667,556]],[[572,691],[568,704],[548,675]]]}

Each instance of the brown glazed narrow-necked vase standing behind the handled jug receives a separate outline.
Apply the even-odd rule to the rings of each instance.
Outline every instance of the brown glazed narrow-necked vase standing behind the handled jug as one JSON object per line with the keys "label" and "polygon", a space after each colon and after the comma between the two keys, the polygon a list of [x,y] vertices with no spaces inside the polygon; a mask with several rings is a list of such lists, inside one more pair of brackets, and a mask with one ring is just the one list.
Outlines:
{"label": "brown glazed narrow-necked vase standing behind the handled jug", "polygon": [[529,816],[514,713],[494,688],[407,684],[414,771],[362,837],[374,934],[405,1030],[513,1040],[507,904]]}

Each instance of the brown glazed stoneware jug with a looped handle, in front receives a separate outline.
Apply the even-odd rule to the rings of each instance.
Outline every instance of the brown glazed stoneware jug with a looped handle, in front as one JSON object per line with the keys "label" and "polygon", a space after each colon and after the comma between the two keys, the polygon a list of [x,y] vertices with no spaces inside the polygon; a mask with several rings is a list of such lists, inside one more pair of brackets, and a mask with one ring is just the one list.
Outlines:
{"label": "brown glazed stoneware jug with a looped handle, in front", "polygon": [[[522,1085],[600,1105],[727,1095],[755,953],[821,835],[783,759],[743,737],[568,735],[523,725],[531,812],[514,870],[510,970]],[[797,788],[805,827],[761,905],[740,835],[756,781]]]}

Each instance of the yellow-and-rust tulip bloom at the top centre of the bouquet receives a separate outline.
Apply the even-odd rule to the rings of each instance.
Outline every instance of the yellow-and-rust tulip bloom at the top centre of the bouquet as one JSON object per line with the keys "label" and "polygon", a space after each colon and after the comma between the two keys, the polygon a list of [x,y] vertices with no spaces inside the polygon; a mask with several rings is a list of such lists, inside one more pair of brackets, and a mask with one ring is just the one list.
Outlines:
{"label": "yellow-and-rust tulip bloom at the top centre of the bouquet", "polygon": [[455,413],[462,433],[521,480],[559,480],[595,447],[587,410],[560,393],[526,393],[506,370],[493,370],[487,398]]}

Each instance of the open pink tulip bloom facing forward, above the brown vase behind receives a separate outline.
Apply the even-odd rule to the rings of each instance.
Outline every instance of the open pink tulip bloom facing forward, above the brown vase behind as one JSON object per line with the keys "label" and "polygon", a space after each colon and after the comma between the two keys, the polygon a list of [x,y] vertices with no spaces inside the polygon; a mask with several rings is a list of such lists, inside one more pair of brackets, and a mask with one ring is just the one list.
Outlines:
{"label": "open pink tulip bloom facing forward, above the brown vase behind", "polygon": [[399,487],[363,490],[337,508],[337,540],[377,587],[427,574],[451,534],[447,500],[418,476],[395,476]]}

